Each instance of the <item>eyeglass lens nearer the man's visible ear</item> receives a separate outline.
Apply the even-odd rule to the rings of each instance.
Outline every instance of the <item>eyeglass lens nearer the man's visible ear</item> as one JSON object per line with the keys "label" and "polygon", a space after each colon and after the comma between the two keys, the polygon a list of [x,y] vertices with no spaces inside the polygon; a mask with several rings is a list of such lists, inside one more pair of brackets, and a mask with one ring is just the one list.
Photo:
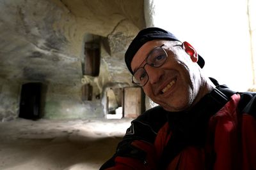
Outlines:
{"label": "eyeglass lens nearer the man's visible ear", "polygon": [[166,59],[167,53],[162,47],[158,46],[148,55],[147,63],[152,67],[160,67],[164,64]]}

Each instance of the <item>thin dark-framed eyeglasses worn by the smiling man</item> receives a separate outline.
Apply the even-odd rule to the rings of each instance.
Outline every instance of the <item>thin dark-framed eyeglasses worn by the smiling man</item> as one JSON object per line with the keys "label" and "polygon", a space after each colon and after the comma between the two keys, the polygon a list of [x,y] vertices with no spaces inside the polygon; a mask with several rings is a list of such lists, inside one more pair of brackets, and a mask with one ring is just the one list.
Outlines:
{"label": "thin dark-framed eyeglasses worn by the smiling man", "polygon": [[144,66],[139,67],[138,69],[136,69],[136,71],[134,71],[134,74],[132,76],[132,83],[143,87],[147,84],[148,82],[148,73],[145,70],[145,66],[148,64],[149,66],[152,67],[161,67],[163,66],[164,62],[166,61],[168,55],[166,53],[166,51],[163,48],[164,45],[161,46],[157,46],[156,48],[154,48],[149,55],[147,56],[147,58],[144,61],[146,61],[146,63],[144,64]]}

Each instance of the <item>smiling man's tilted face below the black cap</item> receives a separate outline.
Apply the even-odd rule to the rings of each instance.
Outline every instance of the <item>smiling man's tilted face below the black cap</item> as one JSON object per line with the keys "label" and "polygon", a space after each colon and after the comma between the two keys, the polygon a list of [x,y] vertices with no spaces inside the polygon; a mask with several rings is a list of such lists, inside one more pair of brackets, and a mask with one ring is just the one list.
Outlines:
{"label": "smiling man's tilted face below the black cap", "polygon": [[[177,43],[176,43],[177,44]],[[144,66],[152,49],[164,45],[168,54],[163,66],[145,65],[148,82],[143,86],[145,94],[168,111],[186,110],[196,99],[201,85],[199,66],[191,60],[182,46],[172,41],[148,41],[134,55],[132,71]]]}

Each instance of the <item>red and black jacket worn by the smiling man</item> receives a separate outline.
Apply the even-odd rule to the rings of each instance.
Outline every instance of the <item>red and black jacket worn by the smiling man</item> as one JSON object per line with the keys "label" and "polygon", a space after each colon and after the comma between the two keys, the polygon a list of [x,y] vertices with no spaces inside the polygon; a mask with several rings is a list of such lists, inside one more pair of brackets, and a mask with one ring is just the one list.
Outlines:
{"label": "red and black jacket worn by the smiling man", "polygon": [[249,92],[234,94],[217,113],[201,122],[193,115],[184,127],[179,119],[161,117],[170,115],[161,108],[147,111],[132,121],[115,155],[100,169],[256,169],[255,97]]}

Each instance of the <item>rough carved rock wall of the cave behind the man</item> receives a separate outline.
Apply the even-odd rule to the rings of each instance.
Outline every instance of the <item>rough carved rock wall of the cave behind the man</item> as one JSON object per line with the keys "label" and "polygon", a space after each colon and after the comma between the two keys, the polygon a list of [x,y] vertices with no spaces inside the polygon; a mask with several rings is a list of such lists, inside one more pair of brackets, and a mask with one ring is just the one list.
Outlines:
{"label": "rough carved rock wall of the cave behind the man", "polygon": [[[17,117],[20,87],[28,82],[47,86],[47,118],[104,116],[104,89],[131,85],[124,52],[145,27],[143,6],[143,0],[0,1],[0,120]],[[82,71],[84,43],[93,37],[100,41],[97,77]],[[82,79],[93,85],[92,101],[81,101]]]}

